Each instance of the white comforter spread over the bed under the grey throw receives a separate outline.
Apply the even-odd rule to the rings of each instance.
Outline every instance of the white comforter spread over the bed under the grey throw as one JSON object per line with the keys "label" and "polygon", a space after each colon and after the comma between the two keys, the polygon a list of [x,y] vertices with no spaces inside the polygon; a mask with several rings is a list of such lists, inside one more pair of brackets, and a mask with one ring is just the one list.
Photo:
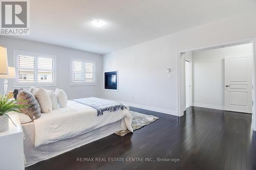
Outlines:
{"label": "white comforter spread over the bed under the grey throw", "polygon": [[35,147],[90,132],[122,118],[127,129],[133,132],[132,116],[127,109],[104,112],[103,115],[97,116],[97,110],[94,108],[68,101],[66,108],[42,113],[40,118],[34,120]]}

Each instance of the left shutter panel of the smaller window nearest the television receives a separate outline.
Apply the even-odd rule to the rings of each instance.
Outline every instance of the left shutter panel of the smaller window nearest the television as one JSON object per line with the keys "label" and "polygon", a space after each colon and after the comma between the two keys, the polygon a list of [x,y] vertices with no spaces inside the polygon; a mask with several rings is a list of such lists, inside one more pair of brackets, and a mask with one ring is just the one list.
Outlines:
{"label": "left shutter panel of the smaller window nearest the television", "polygon": [[73,82],[84,82],[84,63],[73,61]]}

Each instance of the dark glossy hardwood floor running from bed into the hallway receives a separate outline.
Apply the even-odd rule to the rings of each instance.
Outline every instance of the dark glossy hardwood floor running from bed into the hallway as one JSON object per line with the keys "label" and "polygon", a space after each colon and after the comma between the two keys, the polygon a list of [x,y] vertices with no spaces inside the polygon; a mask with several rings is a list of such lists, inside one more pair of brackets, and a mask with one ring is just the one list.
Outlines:
{"label": "dark glossy hardwood floor running from bed into the hallway", "polygon": [[[131,110],[159,119],[133,134],[113,134],[26,169],[256,169],[256,133],[251,130],[251,114],[190,107],[179,118]],[[78,162],[80,157],[94,161]],[[124,158],[124,162],[96,162],[96,158]],[[144,161],[130,162],[126,158]],[[155,161],[146,162],[145,158]],[[179,161],[158,162],[157,158]]]}

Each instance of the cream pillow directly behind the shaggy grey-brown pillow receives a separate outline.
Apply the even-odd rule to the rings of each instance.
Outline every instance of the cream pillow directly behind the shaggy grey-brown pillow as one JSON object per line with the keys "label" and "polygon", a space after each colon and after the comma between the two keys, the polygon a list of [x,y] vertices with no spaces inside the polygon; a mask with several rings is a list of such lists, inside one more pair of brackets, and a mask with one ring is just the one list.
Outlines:
{"label": "cream pillow directly behind the shaggy grey-brown pillow", "polygon": [[44,88],[31,87],[29,90],[39,103],[41,113],[50,113],[52,111],[52,102],[49,94]]}

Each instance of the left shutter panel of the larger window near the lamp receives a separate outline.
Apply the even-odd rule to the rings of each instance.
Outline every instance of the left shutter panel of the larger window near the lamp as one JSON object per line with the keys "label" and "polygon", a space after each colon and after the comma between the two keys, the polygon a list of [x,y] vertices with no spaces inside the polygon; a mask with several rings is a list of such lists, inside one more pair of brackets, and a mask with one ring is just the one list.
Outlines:
{"label": "left shutter panel of the larger window near the lamp", "polygon": [[18,82],[35,82],[35,57],[18,56]]}

